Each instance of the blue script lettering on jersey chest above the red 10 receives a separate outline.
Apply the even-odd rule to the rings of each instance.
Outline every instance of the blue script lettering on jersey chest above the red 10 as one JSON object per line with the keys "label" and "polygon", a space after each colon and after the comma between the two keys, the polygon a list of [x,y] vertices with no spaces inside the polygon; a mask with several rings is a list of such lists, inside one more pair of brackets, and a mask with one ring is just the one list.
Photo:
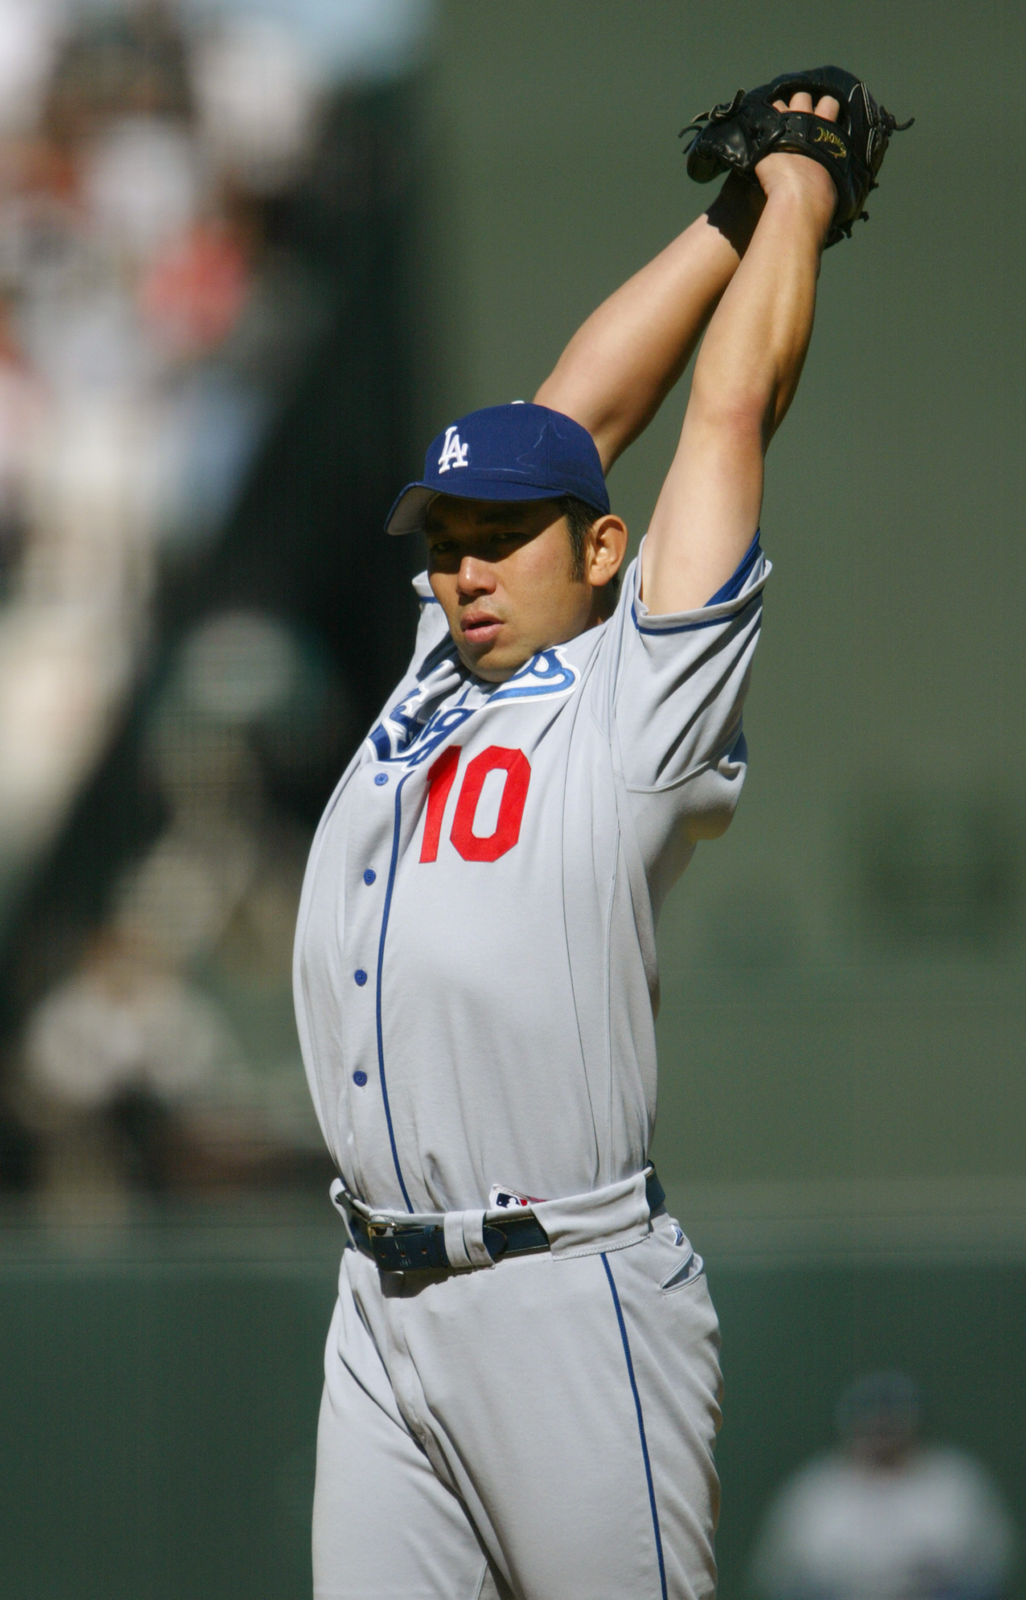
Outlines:
{"label": "blue script lettering on jersey chest above the red 10", "polygon": [[[419,766],[477,710],[511,701],[554,699],[570,694],[576,682],[576,667],[571,667],[557,648],[543,650],[507,683],[501,683],[487,698],[475,696],[471,706],[467,704],[471,685],[466,683],[458,662],[448,656],[405,699],[392,706],[371,728],[368,738],[379,762],[407,762],[410,766]],[[463,694],[458,704],[440,704],[461,685]]]}

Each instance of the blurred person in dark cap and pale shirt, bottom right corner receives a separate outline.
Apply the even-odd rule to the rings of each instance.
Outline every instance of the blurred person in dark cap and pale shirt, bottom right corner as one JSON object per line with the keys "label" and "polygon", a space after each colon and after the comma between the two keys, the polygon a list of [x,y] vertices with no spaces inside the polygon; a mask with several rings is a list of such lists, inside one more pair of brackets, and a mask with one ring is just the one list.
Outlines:
{"label": "blurred person in dark cap and pale shirt, bottom right corner", "polygon": [[996,1600],[1013,1530],[968,1456],[919,1442],[900,1373],[861,1378],[837,1406],[839,1448],[772,1504],[752,1566],[767,1600]]}

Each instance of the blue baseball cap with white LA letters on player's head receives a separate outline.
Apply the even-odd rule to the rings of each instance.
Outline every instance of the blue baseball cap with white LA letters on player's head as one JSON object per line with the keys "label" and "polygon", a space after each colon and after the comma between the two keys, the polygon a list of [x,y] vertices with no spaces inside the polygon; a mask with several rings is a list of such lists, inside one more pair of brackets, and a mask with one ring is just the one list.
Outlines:
{"label": "blue baseball cap with white LA letters on player's head", "polygon": [[386,533],[419,533],[435,494],[458,499],[528,501],[573,494],[608,512],[610,494],[586,427],[546,405],[514,400],[458,418],[424,456],[424,477],[407,483]]}

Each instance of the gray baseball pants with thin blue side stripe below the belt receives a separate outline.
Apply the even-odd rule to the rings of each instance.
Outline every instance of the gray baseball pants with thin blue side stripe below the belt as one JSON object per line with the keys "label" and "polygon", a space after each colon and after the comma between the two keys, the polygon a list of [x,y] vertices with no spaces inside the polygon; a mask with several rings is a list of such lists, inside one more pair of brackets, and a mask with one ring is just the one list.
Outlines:
{"label": "gray baseball pants with thin blue side stripe below the belt", "polygon": [[472,1272],[346,1250],[315,1600],[711,1600],[719,1328],[672,1218]]}

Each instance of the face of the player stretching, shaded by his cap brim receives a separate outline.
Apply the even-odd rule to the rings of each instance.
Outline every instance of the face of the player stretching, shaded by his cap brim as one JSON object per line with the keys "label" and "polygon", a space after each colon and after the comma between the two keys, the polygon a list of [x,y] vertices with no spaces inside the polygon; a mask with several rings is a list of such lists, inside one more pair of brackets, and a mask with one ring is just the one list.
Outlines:
{"label": "face of the player stretching, shaded by his cap brim", "polygon": [[439,494],[424,533],[431,587],[456,648],[490,683],[595,621],[594,587],[573,574],[567,518],[555,501]]}

